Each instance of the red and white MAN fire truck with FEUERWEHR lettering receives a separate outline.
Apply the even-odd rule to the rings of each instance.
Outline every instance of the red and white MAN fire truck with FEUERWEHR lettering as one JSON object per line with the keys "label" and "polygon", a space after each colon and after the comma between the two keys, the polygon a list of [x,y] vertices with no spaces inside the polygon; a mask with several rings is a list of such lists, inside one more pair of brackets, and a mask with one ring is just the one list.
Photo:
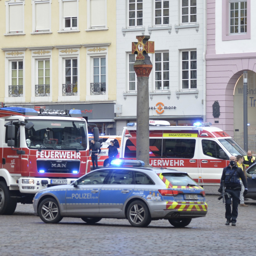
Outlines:
{"label": "red and white MAN fire truck with FEUERWEHR lettering", "polygon": [[[80,110],[4,107],[0,127],[0,214],[12,214],[17,203],[32,204],[42,188],[70,184],[90,172],[88,129]],[[98,128],[93,133],[99,144]]]}

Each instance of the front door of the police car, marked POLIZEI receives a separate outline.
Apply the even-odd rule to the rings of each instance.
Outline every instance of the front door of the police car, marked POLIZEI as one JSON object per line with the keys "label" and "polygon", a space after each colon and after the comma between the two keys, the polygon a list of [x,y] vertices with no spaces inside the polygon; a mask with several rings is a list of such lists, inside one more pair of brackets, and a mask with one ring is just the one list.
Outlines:
{"label": "front door of the police car, marked POLIZEI", "polygon": [[99,194],[109,170],[97,170],[77,180],[77,185],[67,190],[67,213],[99,213]]}

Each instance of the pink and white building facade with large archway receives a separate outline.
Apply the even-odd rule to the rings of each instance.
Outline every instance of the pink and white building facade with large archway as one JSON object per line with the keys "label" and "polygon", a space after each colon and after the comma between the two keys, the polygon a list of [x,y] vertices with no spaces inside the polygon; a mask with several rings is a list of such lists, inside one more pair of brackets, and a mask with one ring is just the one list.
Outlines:
{"label": "pink and white building facade with large archway", "polygon": [[[206,118],[244,147],[243,72],[247,77],[248,149],[256,146],[256,2],[207,0]],[[219,116],[213,115],[218,101]]]}

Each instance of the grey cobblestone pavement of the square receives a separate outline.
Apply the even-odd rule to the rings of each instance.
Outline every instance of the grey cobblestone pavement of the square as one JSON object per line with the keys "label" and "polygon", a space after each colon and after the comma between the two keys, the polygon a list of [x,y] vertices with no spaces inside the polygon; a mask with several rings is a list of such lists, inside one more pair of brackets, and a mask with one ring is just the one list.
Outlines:
{"label": "grey cobblestone pavement of the square", "polygon": [[241,256],[256,255],[256,201],[238,207],[236,227],[225,225],[225,206],[218,187],[204,187],[206,217],[193,219],[186,228],[167,220],[152,221],[148,228],[134,228],[128,220],[102,219],[88,225],[81,219],[63,218],[45,224],[33,215],[32,205],[17,205],[11,216],[0,216],[1,256]]}

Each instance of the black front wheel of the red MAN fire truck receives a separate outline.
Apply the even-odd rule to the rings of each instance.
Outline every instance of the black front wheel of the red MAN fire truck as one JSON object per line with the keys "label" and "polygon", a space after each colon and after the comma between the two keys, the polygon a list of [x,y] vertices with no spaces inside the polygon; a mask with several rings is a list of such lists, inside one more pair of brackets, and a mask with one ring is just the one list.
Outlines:
{"label": "black front wheel of the red MAN fire truck", "polygon": [[11,215],[17,206],[17,199],[11,198],[10,190],[0,181],[0,215]]}

